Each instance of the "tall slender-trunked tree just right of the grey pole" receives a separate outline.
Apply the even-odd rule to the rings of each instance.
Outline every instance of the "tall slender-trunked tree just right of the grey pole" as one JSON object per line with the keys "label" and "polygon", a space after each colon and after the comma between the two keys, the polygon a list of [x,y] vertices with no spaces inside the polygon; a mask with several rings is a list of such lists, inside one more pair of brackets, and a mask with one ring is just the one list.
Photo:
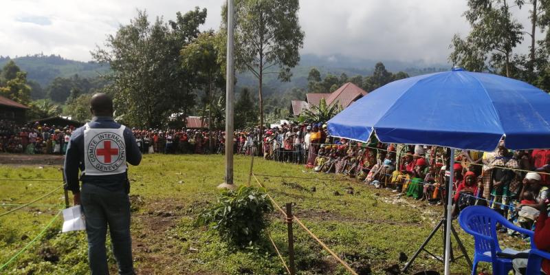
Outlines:
{"label": "tall slender-trunked tree just right of the grey pole", "polygon": [[[236,65],[258,79],[260,131],[263,131],[263,77],[277,73],[281,81],[289,81],[300,61],[304,32],[298,23],[298,0],[239,0],[235,5]],[[223,8],[223,22],[227,22]],[[226,26],[225,26],[226,27]],[[278,68],[273,72],[270,68]]]}

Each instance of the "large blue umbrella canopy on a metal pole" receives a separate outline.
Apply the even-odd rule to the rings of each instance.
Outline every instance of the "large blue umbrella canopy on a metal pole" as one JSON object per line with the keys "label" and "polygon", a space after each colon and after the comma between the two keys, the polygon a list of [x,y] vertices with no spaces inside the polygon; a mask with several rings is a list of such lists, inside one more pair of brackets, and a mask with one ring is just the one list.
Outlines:
{"label": "large blue umbrella canopy on a metal pole", "polygon": [[328,122],[333,136],[493,151],[550,148],[550,96],[519,80],[453,69],[397,80]]}

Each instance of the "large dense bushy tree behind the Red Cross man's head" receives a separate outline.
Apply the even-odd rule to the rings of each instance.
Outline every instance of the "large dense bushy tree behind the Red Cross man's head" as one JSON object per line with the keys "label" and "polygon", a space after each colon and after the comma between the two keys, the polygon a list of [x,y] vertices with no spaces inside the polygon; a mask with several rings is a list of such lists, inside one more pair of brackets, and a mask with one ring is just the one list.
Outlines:
{"label": "large dense bushy tree behind the Red Cross man's head", "polygon": [[104,48],[92,52],[94,59],[113,69],[107,91],[114,94],[118,115],[135,126],[158,127],[177,114],[182,120],[195,102],[193,74],[181,66],[180,51],[199,36],[206,9],[195,8],[166,24],[151,23],[138,11],[129,25],[107,37]]}

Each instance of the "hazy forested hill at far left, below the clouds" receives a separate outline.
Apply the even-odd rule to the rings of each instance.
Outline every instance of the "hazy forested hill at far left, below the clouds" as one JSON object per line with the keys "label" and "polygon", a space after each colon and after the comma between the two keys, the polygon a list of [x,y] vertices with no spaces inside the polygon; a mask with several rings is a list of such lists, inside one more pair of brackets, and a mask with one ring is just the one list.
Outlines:
{"label": "hazy forested hill at far left, below the clouds", "polygon": [[109,72],[109,66],[100,65],[89,61],[73,61],[61,56],[45,56],[35,54],[33,56],[19,56],[10,58],[0,56],[0,67],[13,60],[21,70],[27,72],[27,78],[39,83],[42,87],[49,85],[56,77],[69,78],[78,74],[82,78],[95,78],[100,74]]}

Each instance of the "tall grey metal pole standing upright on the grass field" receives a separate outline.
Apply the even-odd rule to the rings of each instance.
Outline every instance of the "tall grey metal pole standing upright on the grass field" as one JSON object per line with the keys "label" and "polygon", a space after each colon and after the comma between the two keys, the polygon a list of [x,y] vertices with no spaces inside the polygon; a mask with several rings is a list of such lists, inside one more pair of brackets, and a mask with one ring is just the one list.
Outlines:
{"label": "tall grey metal pole standing upright on the grass field", "polygon": [[233,65],[233,1],[228,0],[228,54],[225,69],[225,182],[218,188],[234,188],[233,184],[233,102],[234,102],[234,65]]}

